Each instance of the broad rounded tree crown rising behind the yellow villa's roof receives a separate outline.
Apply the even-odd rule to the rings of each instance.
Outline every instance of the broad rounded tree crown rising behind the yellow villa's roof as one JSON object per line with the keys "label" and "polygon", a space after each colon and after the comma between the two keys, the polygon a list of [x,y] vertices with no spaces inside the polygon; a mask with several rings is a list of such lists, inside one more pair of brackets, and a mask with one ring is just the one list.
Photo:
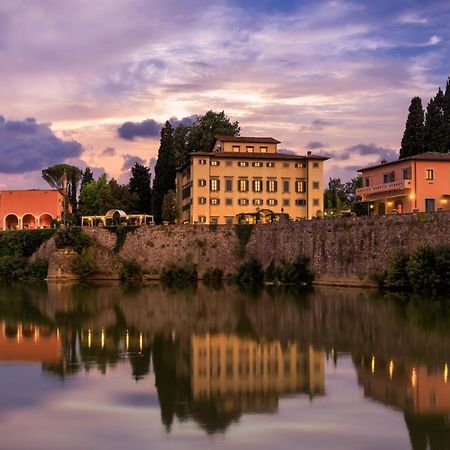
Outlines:
{"label": "broad rounded tree crown rising behind the yellow villa's roof", "polygon": [[219,113],[208,111],[192,125],[188,150],[189,152],[209,151],[215,135],[239,136],[240,131],[239,122],[231,122],[224,111]]}

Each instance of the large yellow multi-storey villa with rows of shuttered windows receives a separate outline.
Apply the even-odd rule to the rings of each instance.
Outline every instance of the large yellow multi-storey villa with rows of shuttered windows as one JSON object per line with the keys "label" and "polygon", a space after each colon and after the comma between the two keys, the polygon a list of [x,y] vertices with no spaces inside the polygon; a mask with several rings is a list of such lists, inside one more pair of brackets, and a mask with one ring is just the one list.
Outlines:
{"label": "large yellow multi-storey villa with rows of shuttered windows", "polygon": [[271,137],[216,136],[177,170],[183,223],[233,224],[311,219],[323,211],[328,158],[279,153]]}

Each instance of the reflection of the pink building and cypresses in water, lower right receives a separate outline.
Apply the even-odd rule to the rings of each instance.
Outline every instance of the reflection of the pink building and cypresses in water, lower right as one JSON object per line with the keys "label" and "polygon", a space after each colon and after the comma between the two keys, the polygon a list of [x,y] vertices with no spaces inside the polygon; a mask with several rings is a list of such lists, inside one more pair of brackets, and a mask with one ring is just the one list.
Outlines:
{"label": "reflection of the pink building and cypresses in water, lower right", "polygon": [[364,395],[404,412],[414,450],[450,449],[448,363],[436,366],[354,358]]}

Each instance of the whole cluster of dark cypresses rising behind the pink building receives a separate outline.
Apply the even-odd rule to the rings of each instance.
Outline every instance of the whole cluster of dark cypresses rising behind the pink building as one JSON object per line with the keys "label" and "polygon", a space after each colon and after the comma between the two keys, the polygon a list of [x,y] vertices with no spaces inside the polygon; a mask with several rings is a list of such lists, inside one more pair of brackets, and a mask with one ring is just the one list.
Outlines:
{"label": "whole cluster of dark cypresses rising behind the pink building", "polygon": [[400,159],[424,152],[450,152],[450,78],[445,92],[438,89],[426,112],[420,97],[414,97],[400,147]]}

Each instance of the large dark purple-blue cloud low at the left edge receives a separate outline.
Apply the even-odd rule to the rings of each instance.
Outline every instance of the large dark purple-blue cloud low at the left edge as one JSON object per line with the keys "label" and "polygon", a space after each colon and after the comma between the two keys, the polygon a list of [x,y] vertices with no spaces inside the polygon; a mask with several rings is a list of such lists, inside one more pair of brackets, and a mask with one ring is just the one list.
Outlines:
{"label": "large dark purple-blue cloud low at the left edge", "polygon": [[0,116],[0,172],[25,173],[42,170],[70,158],[78,158],[83,147],[64,141],[50,125],[34,118],[7,120]]}

